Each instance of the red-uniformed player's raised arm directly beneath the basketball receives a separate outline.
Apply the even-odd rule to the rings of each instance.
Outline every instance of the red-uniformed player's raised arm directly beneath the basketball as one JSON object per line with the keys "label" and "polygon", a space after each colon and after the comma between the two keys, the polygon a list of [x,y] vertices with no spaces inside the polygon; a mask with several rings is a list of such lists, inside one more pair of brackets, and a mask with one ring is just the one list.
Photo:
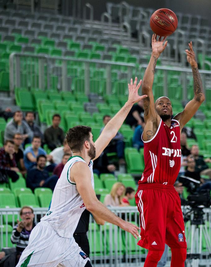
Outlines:
{"label": "red-uniformed player's raised arm directly beneath the basketball", "polygon": [[157,40],[157,35],[156,34],[152,35],[152,54],[143,77],[142,94],[146,94],[148,96],[143,100],[144,120],[146,122],[146,126],[143,132],[144,141],[150,140],[155,135],[160,121],[160,117],[155,111],[152,85],[154,81],[154,74],[155,74],[155,67],[157,60],[160,54],[165,49],[165,47],[167,46],[167,41],[165,40],[166,37],[164,37],[163,39],[162,37],[159,37]]}

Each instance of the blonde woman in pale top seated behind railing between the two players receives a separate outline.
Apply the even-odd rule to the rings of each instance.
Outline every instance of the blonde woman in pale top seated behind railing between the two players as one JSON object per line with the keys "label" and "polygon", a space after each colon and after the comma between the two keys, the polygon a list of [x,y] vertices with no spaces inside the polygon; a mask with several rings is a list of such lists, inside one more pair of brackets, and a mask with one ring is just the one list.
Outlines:
{"label": "blonde woman in pale top seated behind railing between the two players", "polygon": [[114,185],[111,188],[110,194],[105,196],[104,199],[104,205],[105,206],[119,206],[124,207],[127,206],[122,202],[123,196],[125,195],[125,186],[123,183],[114,183]]}

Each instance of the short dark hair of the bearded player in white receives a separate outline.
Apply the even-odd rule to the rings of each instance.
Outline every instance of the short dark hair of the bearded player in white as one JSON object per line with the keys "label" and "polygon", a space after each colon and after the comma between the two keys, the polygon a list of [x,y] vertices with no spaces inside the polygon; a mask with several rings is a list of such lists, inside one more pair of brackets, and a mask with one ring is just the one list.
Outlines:
{"label": "short dark hair of the bearded player in white", "polygon": [[73,153],[81,151],[85,141],[90,141],[92,128],[83,125],[72,127],[67,132],[67,143]]}

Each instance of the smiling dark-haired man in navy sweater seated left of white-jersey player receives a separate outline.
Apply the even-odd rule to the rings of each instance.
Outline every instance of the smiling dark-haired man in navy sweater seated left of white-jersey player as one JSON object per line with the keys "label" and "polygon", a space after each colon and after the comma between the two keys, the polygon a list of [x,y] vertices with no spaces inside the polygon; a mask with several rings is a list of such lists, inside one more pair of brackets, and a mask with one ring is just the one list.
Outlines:
{"label": "smiling dark-haired man in navy sweater seated left of white-jersey player", "polygon": [[39,155],[37,157],[37,166],[34,166],[34,168],[27,173],[26,185],[31,188],[33,192],[37,187],[48,187],[51,188],[52,191],[54,190],[58,176],[49,176],[49,173],[45,170],[46,162],[47,157],[45,155]]}

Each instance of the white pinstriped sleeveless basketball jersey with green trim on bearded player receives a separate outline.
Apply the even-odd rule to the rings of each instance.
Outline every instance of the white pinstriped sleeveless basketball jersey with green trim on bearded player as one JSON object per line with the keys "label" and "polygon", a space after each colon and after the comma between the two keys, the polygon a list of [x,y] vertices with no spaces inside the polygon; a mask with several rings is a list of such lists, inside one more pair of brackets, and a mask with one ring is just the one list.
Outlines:
{"label": "white pinstriped sleeveless basketball jersey with green trim on bearded player", "polygon": [[[70,169],[75,162],[82,161],[82,157],[73,156],[64,166],[61,176],[53,191],[52,202],[49,211],[41,219],[50,223],[58,235],[70,238],[78,225],[81,214],[86,209],[82,197],[79,195],[76,184],[70,181]],[[86,163],[86,162],[85,162]],[[93,161],[89,162],[91,182],[94,188],[94,176],[92,171]],[[83,177],[81,177],[83,179]]]}

